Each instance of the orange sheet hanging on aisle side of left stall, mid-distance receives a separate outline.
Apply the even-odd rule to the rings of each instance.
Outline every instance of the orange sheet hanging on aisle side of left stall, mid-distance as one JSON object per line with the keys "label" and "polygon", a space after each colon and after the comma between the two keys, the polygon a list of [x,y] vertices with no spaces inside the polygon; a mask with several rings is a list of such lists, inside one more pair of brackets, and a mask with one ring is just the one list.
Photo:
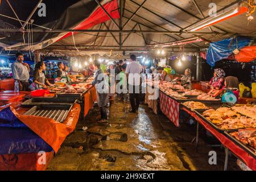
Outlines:
{"label": "orange sheet hanging on aisle side of left stall, mid-distance", "polygon": [[84,117],[89,113],[89,110],[92,109],[94,101],[96,101],[96,88],[93,86],[88,90],[84,95]]}

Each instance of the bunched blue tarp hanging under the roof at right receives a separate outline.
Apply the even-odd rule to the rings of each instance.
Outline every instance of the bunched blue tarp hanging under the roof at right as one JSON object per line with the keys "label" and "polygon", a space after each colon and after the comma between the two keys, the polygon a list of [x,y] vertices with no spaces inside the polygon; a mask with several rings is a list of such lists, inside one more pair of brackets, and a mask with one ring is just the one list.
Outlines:
{"label": "bunched blue tarp hanging under the roof at right", "polygon": [[234,49],[241,49],[248,46],[250,42],[251,39],[245,36],[234,36],[219,42],[210,43],[210,47],[207,52],[207,63],[214,67],[217,61],[226,59],[232,55]]}

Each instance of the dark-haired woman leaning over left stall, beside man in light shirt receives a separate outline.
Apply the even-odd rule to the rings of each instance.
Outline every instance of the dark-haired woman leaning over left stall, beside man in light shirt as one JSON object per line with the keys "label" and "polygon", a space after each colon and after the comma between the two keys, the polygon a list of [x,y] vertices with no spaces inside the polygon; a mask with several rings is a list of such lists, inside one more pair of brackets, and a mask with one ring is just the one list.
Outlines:
{"label": "dark-haired woman leaning over left stall, beside man in light shirt", "polygon": [[33,82],[35,83],[36,90],[46,88],[46,84],[48,86],[52,86],[52,84],[50,84],[49,81],[47,80],[43,71],[46,71],[46,64],[44,64],[43,61],[40,61],[35,65],[35,71],[34,71]]}

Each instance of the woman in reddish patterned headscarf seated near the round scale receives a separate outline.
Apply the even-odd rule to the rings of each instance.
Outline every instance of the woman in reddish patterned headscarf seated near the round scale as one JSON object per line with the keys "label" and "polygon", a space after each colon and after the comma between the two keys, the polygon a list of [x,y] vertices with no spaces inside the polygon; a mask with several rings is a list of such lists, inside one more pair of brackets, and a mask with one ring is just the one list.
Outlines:
{"label": "woman in reddish patterned headscarf seated near the round scale", "polygon": [[211,89],[221,89],[225,81],[225,72],[221,68],[214,69],[213,77],[207,84]]}

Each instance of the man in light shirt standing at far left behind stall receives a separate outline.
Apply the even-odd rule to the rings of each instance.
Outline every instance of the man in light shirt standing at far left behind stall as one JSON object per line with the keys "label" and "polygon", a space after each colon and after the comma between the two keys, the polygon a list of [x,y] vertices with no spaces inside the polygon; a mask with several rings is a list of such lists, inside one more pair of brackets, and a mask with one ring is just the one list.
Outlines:
{"label": "man in light shirt standing at far left behind stall", "polygon": [[14,80],[18,80],[19,82],[19,90],[28,91],[30,67],[27,63],[23,63],[23,60],[22,53],[16,53],[16,61],[11,64],[11,72],[13,72]]}

